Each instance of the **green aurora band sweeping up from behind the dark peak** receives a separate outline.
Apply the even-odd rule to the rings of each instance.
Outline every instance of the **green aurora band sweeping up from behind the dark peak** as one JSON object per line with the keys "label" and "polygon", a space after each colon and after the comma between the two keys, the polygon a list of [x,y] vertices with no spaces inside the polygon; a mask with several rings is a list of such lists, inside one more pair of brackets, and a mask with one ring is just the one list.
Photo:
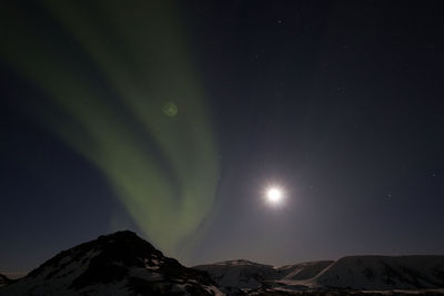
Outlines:
{"label": "green aurora band sweeping up from behind the dark peak", "polygon": [[213,206],[211,115],[174,6],[122,3],[8,3],[0,59],[47,98],[22,112],[93,163],[145,235],[175,254]]}

